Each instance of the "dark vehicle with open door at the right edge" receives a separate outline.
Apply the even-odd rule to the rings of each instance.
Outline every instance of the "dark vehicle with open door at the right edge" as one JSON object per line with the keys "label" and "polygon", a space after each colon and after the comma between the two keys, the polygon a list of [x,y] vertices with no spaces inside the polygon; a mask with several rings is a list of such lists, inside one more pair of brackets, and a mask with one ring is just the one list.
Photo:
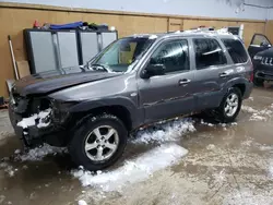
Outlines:
{"label": "dark vehicle with open door at the right edge", "polygon": [[248,52],[253,62],[254,84],[262,86],[264,81],[273,81],[273,47],[266,36],[256,34]]}

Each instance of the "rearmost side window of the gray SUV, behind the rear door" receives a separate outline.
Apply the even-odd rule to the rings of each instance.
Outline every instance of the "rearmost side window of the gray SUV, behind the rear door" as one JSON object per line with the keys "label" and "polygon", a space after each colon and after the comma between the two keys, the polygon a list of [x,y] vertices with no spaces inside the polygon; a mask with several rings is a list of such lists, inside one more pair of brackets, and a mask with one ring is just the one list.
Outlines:
{"label": "rearmost side window of the gray SUV, behind the rear door", "polygon": [[239,39],[222,39],[234,63],[244,63],[248,61],[248,55]]}

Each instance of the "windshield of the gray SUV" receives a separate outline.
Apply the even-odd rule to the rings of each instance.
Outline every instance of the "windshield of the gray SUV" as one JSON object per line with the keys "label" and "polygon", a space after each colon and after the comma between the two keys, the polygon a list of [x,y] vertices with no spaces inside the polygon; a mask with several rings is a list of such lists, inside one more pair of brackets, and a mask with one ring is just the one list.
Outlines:
{"label": "windshield of the gray SUV", "polygon": [[102,65],[112,72],[126,72],[155,41],[145,37],[121,38],[108,46],[102,55],[92,61],[92,65]]}

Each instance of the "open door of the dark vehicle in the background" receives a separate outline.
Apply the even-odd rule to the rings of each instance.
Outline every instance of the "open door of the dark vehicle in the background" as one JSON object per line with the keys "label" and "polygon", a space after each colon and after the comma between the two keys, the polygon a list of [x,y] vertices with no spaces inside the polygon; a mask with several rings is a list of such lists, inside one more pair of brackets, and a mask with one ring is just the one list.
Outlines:
{"label": "open door of the dark vehicle in the background", "polygon": [[250,58],[253,59],[253,57],[258,52],[266,50],[269,48],[271,48],[271,43],[268,37],[263,34],[254,34],[248,48],[248,52]]}

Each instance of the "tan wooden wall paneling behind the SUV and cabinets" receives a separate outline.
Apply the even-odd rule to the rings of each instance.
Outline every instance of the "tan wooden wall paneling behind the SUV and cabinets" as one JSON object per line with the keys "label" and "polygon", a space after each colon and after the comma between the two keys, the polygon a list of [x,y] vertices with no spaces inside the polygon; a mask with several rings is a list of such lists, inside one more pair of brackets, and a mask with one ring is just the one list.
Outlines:
{"label": "tan wooden wall paneling behind the SUV and cabinets", "polygon": [[[17,61],[26,60],[25,46],[23,40],[23,29],[32,27],[33,22],[62,24],[75,21],[86,21],[94,23],[107,23],[115,26],[119,32],[119,37],[136,33],[162,33],[167,31],[189,29],[204,26],[236,26],[245,24],[245,39],[249,45],[254,33],[265,32],[265,22],[230,20],[230,19],[205,19],[194,16],[169,16],[159,14],[141,14],[115,11],[96,11],[69,8],[55,8],[47,5],[29,4],[8,4],[0,3],[0,25],[4,28],[0,33],[0,96],[8,97],[5,80],[14,79],[11,55],[8,45],[8,35],[11,35],[14,53]],[[1,7],[3,5],[3,7]],[[17,8],[19,7],[19,8]],[[268,23],[266,34],[273,41],[273,21]],[[43,49],[43,48],[41,48]]]}

